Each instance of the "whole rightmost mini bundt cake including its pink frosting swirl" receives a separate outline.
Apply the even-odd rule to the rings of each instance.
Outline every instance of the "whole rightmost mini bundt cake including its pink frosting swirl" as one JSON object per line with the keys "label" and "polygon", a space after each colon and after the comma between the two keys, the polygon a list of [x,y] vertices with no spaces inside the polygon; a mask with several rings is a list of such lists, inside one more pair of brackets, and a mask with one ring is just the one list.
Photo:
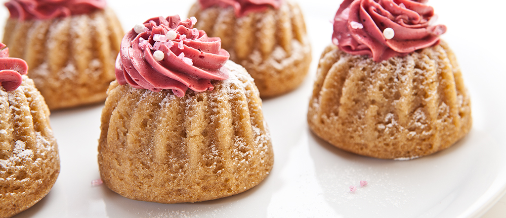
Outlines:
{"label": "whole rightmost mini bundt cake including its pink frosting swirl", "polygon": [[336,147],[410,159],[448,148],[471,129],[460,68],[438,37],[446,27],[428,24],[432,7],[399,2],[345,1],[336,14],[338,46],[322,53],[308,111],[312,131]]}

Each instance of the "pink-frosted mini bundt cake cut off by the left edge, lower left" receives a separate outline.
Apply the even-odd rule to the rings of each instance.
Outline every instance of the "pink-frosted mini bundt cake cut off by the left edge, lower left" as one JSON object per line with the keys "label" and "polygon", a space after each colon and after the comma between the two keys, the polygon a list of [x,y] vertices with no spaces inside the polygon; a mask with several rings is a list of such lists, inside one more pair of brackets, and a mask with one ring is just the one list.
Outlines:
{"label": "pink-frosted mini bundt cake cut off by the left edge, lower left", "polygon": [[23,60],[8,58],[7,48],[0,50],[0,217],[42,199],[60,172],[49,109],[27,70]]}

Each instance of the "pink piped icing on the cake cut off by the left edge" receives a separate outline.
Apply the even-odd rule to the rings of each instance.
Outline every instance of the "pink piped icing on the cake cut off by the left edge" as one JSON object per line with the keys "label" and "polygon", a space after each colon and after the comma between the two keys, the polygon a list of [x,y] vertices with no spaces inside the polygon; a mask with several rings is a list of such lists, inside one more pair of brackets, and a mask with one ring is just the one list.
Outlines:
{"label": "pink piped icing on the cake cut off by the left edge", "polygon": [[23,59],[9,58],[9,48],[0,42],[0,83],[6,91],[16,90],[28,73],[28,65]]}

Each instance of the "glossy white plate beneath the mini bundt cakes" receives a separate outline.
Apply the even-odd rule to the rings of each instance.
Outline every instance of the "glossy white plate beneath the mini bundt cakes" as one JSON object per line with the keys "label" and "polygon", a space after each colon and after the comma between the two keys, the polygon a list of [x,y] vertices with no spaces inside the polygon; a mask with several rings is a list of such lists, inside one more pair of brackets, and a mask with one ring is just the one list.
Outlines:
{"label": "glossy white plate beneath the mini bundt cakes", "polygon": [[[154,16],[184,17],[193,1],[108,2],[127,29]],[[478,217],[506,189],[506,71],[499,64],[506,46],[495,26],[504,26],[500,10],[506,4],[451,2],[430,4],[448,26],[443,38],[454,49],[471,93],[474,126],[445,151],[409,161],[380,160],[341,151],[310,132],[306,113],[316,65],[330,43],[329,20],[340,1],[300,1],[313,63],[301,88],[264,100],[275,165],[259,186],[219,200],[172,205],[92,187],[91,181],[100,178],[97,140],[103,106],[95,105],[53,112],[60,176],[43,200],[16,217]],[[3,8],[2,22],[7,16]],[[360,187],[360,180],[369,184]],[[351,185],[359,186],[356,192],[349,191]]]}

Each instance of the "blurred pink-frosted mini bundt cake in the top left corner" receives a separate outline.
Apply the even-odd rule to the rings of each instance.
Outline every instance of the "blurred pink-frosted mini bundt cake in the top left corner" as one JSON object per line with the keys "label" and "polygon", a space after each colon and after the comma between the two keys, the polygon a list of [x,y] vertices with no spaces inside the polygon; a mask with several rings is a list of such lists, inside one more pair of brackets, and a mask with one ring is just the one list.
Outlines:
{"label": "blurred pink-frosted mini bundt cake in the top left corner", "polygon": [[105,0],[6,3],[4,43],[26,60],[51,110],[103,102],[123,36]]}

